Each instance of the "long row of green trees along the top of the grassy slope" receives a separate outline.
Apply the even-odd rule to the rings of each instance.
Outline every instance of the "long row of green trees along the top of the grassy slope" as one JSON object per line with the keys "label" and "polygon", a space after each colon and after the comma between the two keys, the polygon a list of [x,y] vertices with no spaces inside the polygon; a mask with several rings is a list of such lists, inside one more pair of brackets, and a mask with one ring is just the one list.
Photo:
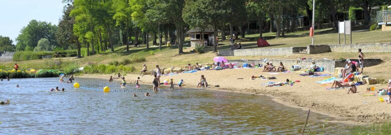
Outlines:
{"label": "long row of green trees along the top of the grassy slope", "polygon": [[[369,26],[373,6],[391,0],[315,0],[317,25],[347,19],[349,7],[361,7],[364,25]],[[259,36],[265,29],[276,37],[295,31],[298,16],[312,16],[312,0],[63,0],[67,5],[58,26],[32,20],[17,37],[17,50],[34,50],[38,40],[46,38],[54,48],[87,47],[87,55],[114,51],[114,45],[145,43],[149,38],[159,48],[166,41],[178,45],[182,53],[185,32],[189,28],[218,29],[242,37],[250,33],[250,24]],[[342,15],[341,15],[342,14]],[[339,16],[339,17],[338,17]],[[349,14],[349,16],[351,16]],[[311,17],[308,17],[311,21]],[[255,27],[255,28],[254,28]],[[318,26],[319,27],[319,26]],[[226,33],[226,31],[228,31]],[[164,35],[164,36],[163,36]],[[164,37],[164,42],[163,42]],[[217,39],[216,37],[214,38]],[[215,43],[217,43],[215,41]],[[217,51],[214,44],[214,51]],[[91,49],[91,50],[90,50]]]}

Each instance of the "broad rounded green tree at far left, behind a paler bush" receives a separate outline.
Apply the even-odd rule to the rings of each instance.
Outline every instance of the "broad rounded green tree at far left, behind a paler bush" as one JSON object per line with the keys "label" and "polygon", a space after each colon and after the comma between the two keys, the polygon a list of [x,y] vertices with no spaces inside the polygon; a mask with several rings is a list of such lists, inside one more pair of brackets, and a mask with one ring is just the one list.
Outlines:
{"label": "broad rounded green tree at far left, behind a paler bush", "polygon": [[46,21],[31,20],[29,24],[22,28],[21,33],[16,40],[18,41],[17,50],[32,51],[38,44],[38,40],[47,38],[54,46],[57,46],[55,33],[57,26]]}

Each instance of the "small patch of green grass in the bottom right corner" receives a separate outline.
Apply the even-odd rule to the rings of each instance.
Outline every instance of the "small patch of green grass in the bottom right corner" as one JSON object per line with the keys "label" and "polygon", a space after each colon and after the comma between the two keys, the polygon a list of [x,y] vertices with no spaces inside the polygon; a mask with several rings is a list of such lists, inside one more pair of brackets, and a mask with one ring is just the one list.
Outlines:
{"label": "small patch of green grass in the bottom right corner", "polygon": [[391,134],[391,122],[354,126],[349,130],[348,134]]}

